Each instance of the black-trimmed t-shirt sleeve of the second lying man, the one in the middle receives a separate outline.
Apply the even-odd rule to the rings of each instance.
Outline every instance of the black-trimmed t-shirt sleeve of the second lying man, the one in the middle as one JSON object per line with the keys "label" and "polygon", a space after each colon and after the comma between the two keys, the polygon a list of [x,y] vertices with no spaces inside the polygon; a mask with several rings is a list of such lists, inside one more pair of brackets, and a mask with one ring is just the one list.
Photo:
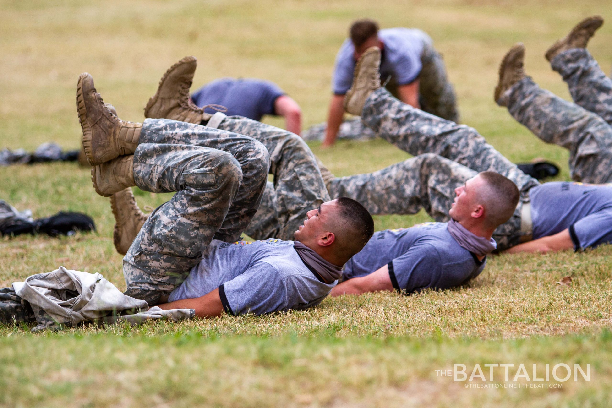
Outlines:
{"label": "black-trimmed t-shirt sleeve of the second lying man, the one in the middle", "polygon": [[391,283],[399,292],[410,294],[427,287],[437,287],[440,281],[440,257],[430,243],[415,243],[389,262],[388,266]]}

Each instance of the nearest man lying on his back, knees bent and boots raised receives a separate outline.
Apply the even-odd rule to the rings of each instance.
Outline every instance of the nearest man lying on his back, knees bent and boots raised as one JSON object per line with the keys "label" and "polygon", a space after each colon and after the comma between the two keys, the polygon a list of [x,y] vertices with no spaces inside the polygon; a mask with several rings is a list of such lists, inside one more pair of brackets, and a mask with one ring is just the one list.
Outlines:
{"label": "nearest man lying on his back, knees bent and boots raised", "polygon": [[[144,221],[124,258],[125,294],[149,306],[170,297],[160,308],[191,308],[201,317],[307,308],[329,294],[342,265],[373,233],[367,210],[339,198],[307,211],[295,241],[236,242],[266,184],[271,161],[263,144],[200,124],[121,121],[88,73],[79,78],[76,100],[97,193],[111,196],[132,186],[176,192]],[[149,111],[152,106],[155,101]],[[293,146],[305,146],[300,143]]]}

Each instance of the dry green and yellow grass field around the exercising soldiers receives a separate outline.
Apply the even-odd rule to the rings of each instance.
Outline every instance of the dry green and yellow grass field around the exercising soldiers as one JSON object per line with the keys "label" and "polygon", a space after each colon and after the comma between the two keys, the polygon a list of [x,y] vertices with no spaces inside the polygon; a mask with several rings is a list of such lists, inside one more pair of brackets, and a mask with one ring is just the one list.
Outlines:
{"label": "dry green and yellow grass field around the exercising soldiers", "polygon": [[[547,146],[493,103],[497,67],[515,42],[540,86],[569,98],[543,54],[578,20],[610,19],[589,50],[609,73],[612,2],[526,0],[315,1],[0,1],[0,148],[33,150],[80,141],[76,80],[94,76],[119,116],[143,119],[163,72],[185,55],[199,68],[194,86],[219,76],[278,83],[304,111],[306,126],[326,119],[335,53],[349,23],[372,17],[383,28],[427,31],[455,84],[462,121],[513,161],[567,152]],[[268,123],[282,126],[278,119]],[[311,145],[338,176],[384,168],[408,157],[384,141]],[[0,285],[59,265],[100,272],[125,288],[114,251],[108,199],[73,163],[0,168],[0,198],[35,217],[59,210],[90,214],[95,234],[0,239]],[[136,191],[141,207],[168,199]],[[376,217],[376,228],[428,220]],[[572,276],[570,286],[558,282]],[[612,405],[612,247],[586,253],[501,255],[468,287],[404,297],[326,299],[318,308],[271,316],[72,328],[33,335],[0,325],[0,406],[7,407],[394,407]],[[455,382],[439,371],[465,364],[557,363],[590,381]],[[485,373],[486,374],[486,373]],[[488,383],[491,384],[491,383]],[[517,385],[502,387],[504,385]],[[562,387],[559,387],[562,385]]]}

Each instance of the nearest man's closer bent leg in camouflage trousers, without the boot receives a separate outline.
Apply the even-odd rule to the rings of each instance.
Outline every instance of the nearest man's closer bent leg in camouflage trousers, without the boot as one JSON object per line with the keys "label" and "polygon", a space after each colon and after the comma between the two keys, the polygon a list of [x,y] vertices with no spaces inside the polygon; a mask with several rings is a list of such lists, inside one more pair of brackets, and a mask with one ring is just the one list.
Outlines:
{"label": "nearest man's closer bent leg in camouflage trousers, without the boot", "polygon": [[[141,190],[176,191],[151,213],[124,257],[126,294],[154,305],[198,264],[222,227],[243,174],[237,160],[222,150],[140,143],[133,175]],[[265,169],[256,176],[263,188]]]}

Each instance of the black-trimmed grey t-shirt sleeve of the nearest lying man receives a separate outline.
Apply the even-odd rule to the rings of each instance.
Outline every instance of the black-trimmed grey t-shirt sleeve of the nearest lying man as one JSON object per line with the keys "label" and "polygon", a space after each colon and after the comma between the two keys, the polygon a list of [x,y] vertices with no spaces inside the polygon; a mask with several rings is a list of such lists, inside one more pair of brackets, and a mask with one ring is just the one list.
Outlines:
{"label": "black-trimmed grey t-shirt sleeve of the nearest lying man", "polygon": [[287,290],[277,269],[257,262],[241,275],[219,286],[225,310],[237,314],[264,314],[287,307]]}

